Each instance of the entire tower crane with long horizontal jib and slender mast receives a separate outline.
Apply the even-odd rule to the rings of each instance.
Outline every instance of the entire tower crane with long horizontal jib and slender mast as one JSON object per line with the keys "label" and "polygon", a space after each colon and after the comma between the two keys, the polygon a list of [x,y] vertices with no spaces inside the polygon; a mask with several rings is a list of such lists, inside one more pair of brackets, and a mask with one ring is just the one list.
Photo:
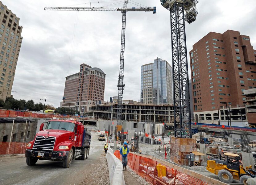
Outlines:
{"label": "entire tower crane with long horizontal jib and slender mast", "polygon": [[124,90],[124,51],[125,51],[125,29],[126,29],[126,12],[153,12],[156,13],[156,7],[131,7],[127,8],[128,0],[124,1],[122,8],[106,8],[106,7],[45,7],[44,10],[74,10],[74,11],[121,11],[122,13],[122,34],[121,34],[121,53],[120,68],[118,77],[118,111],[117,125],[122,125],[122,98]]}

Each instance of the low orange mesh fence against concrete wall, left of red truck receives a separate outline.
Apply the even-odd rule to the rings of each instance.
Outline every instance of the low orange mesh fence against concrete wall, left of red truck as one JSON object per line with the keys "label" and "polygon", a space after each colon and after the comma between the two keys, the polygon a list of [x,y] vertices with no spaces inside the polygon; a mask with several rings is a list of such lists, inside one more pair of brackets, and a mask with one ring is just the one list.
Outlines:
{"label": "low orange mesh fence against concrete wall, left of red truck", "polygon": [[7,154],[25,154],[26,144],[19,142],[7,142],[0,143],[0,155]]}

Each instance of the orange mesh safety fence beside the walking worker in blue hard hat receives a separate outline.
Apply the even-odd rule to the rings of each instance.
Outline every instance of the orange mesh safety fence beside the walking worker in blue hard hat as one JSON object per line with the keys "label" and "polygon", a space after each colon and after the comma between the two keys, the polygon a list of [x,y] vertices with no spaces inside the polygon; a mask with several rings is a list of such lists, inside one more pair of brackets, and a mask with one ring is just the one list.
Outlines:
{"label": "orange mesh safety fence beside the walking worker in blue hard hat", "polygon": [[[116,150],[114,155],[122,161],[119,150]],[[210,185],[209,183],[178,171],[173,167],[164,165],[154,159],[132,153],[129,153],[127,157],[127,165],[130,169],[153,185]]]}

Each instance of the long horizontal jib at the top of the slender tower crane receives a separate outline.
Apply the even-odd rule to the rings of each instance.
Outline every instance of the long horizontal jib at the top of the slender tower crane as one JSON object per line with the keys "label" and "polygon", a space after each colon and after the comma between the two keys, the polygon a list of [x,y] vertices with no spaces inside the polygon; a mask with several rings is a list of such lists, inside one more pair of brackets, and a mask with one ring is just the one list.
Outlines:
{"label": "long horizontal jib at the top of the slender tower crane", "polygon": [[73,11],[144,11],[144,12],[153,12],[153,14],[156,13],[156,7],[154,6],[153,8],[151,7],[145,7],[145,8],[104,8],[104,7],[45,7],[44,10],[60,10],[60,11],[65,11],[65,10],[73,10]]}

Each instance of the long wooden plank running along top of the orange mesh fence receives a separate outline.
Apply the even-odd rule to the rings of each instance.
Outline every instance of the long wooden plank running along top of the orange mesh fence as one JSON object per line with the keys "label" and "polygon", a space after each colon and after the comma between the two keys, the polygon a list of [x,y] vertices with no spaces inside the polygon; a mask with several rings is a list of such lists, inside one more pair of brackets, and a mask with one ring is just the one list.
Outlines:
{"label": "long wooden plank running along top of the orange mesh fence", "polygon": [[178,170],[180,172],[183,172],[184,174],[187,174],[187,175],[190,175],[192,177],[195,177],[197,179],[200,179],[206,183],[209,183],[209,184],[212,184],[212,185],[227,185],[226,183],[223,183],[221,181],[218,181],[216,179],[213,179],[213,178],[210,178],[210,177],[207,177],[207,176],[204,176],[202,174],[199,174],[199,173],[196,173],[195,171],[192,171],[192,170],[188,170],[188,169],[185,169],[183,167],[180,167],[178,165],[175,165],[175,164],[172,164],[170,162],[167,162],[167,161],[163,161],[161,159],[158,159],[158,158],[155,158],[155,157],[152,157],[152,156],[147,156],[147,155],[142,155],[142,154],[137,154],[137,153],[134,153],[134,152],[131,152],[132,154],[134,155],[138,155],[138,156],[142,156],[144,158],[149,158],[149,159],[153,159],[157,162],[160,162],[168,167],[171,167],[171,168],[174,168],[175,170]]}

